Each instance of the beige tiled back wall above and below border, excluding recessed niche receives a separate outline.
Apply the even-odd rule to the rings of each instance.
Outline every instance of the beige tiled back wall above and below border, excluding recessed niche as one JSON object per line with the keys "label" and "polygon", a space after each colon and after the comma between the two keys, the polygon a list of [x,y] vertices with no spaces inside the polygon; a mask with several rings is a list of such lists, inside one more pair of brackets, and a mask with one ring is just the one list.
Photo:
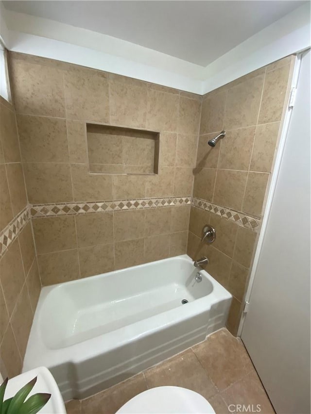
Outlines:
{"label": "beige tiled back wall above and below border, excluding recessed niche", "polygon": [[[10,53],[10,68],[30,203],[192,195],[200,96],[19,53]],[[89,174],[86,122],[159,131],[159,174]],[[141,157],[132,152],[129,161]],[[34,219],[42,283],[186,253],[189,213],[178,206]]]}

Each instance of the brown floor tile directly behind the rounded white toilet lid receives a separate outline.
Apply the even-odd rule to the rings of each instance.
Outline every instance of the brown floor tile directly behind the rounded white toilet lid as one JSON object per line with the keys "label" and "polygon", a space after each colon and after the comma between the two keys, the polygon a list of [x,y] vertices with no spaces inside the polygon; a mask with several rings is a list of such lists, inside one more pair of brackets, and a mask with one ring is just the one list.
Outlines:
{"label": "brown floor tile directly behind the rounded white toilet lid", "polygon": [[216,388],[191,349],[158,364],[145,372],[148,388],[173,385],[188,388],[210,398]]}

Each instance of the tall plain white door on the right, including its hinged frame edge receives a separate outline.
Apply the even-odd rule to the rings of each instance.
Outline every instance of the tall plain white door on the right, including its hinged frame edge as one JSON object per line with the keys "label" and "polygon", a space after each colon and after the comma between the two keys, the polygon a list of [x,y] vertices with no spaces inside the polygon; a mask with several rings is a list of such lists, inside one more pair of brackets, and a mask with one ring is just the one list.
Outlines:
{"label": "tall plain white door on the right, including its hinged frame edge", "polygon": [[278,153],[242,329],[278,414],[310,414],[310,61],[309,50]]}

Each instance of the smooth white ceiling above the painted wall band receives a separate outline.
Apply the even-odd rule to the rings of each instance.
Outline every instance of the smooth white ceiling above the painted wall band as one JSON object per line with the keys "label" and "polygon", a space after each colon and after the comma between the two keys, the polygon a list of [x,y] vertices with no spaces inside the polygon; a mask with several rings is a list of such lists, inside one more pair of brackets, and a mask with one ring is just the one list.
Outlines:
{"label": "smooth white ceiling above the painted wall band", "polygon": [[308,1],[3,1],[201,66]]}

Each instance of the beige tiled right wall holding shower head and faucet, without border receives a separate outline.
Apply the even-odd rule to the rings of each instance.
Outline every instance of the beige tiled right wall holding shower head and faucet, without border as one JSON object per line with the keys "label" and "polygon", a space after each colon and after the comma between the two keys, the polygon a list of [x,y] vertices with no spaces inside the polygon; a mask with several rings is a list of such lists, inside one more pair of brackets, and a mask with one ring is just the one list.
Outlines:
{"label": "beige tiled right wall holding shower head and faucet, without border", "polygon": [[[287,106],[294,57],[260,68],[203,97],[193,196],[261,217]],[[207,141],[225,130],[215,148]],[[204,224],[217,232],[215,243],[202,244]],[[207,271],[233,295],[227,327],[236,333],[256,233],[233,221],[191,207],[188,254],[209,258]]]}

